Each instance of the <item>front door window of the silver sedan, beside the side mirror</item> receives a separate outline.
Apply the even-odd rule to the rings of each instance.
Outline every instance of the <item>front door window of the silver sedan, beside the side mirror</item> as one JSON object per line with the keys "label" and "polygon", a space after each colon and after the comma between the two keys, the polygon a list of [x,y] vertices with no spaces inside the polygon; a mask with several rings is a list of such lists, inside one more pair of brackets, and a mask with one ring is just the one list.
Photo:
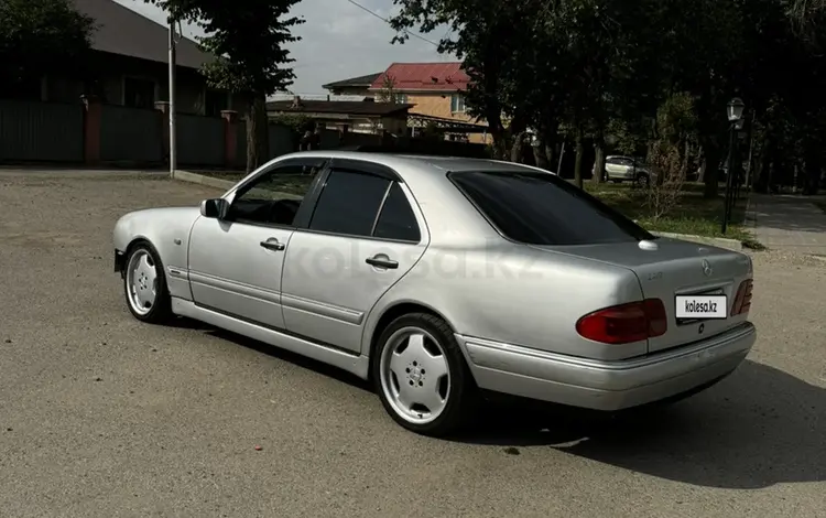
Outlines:
{"label": "front door window of the silver sedan, beside the side mirror", "polygon": [[324,159],[314,159],[274,165],[236,193],[227,219],[253,225],[292,226],[324,162]]}

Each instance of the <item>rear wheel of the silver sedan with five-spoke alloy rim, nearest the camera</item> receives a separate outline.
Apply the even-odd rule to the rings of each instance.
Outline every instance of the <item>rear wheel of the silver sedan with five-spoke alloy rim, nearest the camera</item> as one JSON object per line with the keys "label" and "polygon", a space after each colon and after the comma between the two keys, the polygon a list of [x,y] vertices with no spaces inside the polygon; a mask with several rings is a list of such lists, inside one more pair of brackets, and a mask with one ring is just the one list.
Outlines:
{"label": "rear wheel of the silver sedan with five-spoke alloy rim, nearest the camera", "polygon": [[427,313],[400,316],[384,328],[374,349],[372,375],[384,410],[401,427],[422,435],[458,432],[479,401],[453,330]]}

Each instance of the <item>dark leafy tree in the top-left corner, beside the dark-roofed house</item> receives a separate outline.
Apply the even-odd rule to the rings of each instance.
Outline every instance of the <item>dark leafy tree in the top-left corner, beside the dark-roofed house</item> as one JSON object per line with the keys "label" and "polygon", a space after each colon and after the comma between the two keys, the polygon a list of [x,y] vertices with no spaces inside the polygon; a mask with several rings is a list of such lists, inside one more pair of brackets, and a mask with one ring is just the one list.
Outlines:
{"label": "dark leafy tree in the top-left corner, beside the dark-roofed house", "polygon": [[94,30],[69,0],[0,1],[0,96],[39,99],[46,73],[81,75]]}

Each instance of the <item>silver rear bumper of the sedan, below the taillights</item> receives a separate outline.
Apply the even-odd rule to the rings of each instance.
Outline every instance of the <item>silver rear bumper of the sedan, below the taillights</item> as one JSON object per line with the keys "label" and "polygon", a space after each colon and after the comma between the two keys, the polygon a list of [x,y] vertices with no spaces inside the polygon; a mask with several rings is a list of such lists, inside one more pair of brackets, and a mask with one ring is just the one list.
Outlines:
{"label": "silver rear bumper of the sedan, below the taillights", "polygon": [[564,356],[457,335],[482,389],[595,410],[638,407],[709,385],[751,350],[746,322],[720,335],[655,355],[618,361]]}

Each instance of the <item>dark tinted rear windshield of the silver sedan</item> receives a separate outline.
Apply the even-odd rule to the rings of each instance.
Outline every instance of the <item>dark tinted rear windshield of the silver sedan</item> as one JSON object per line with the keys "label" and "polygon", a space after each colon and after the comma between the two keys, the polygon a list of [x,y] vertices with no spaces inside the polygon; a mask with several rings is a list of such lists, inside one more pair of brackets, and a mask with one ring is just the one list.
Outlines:
{"label": "dark tinted rear windshield of the silver sedan", "polygon": [[499,233],[514,241],[562,246],[654,239],[554,174],[461,171],[448,177]]}

